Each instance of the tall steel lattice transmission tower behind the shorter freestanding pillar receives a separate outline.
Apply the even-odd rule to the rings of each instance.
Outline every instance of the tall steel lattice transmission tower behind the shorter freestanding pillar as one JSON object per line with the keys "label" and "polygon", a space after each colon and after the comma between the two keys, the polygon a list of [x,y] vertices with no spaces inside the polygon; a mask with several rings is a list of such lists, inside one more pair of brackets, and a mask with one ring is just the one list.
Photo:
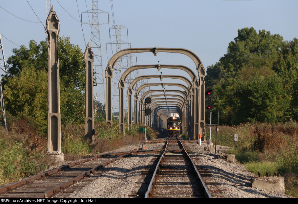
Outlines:
{"label": "tall steel lattice transmission tower behind the shorter freestanding pillar", "polygon": [[[89,14],[92,14],[92,22],[90,22],[89,19],[89,23],[84,23],[84,24],[90,24],[91,27],[91,35],[90,35],[90,43],[89,46],[91,47],[95,59],[94,59],[94,69],[95,69],[95,77],[96,77],[96,82],[94,86],[97,86],[97,84],[100,84],[100,86],[98,86],[98,90],[96,92],[96,100],[97,97],[99,97],[102,105],[105,104],[105,86],[104,86],[104,71],[103,71],[103,61],[102,61],[102,55],[101,55],[101,43],[100,43],[100,29],[99,26],[100,25],[104,25],[104,24],[108,24],[109,23],[109,13],[99,10],[98,9],[98,0],[93,0],[92,1],[92,10],[88,10],[85,12],[81,13],[81,23],[82,22],[82,18],[83,15],[82,14],[87,14],[88,18],[89,18]],[[99,14],[108,14],[108,23],[99,23],[98,20],[98,15]],[[103,106],[100,107],[102,110]],[[94,109],[95,110],[95,109]]]}

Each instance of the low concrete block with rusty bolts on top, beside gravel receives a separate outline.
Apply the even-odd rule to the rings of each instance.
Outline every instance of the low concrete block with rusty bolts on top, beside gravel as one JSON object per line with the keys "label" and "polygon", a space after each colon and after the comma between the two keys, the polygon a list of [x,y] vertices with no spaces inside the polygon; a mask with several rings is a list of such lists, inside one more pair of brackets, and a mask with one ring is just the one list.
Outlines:
{"label": "low concrete block with rusty bolts on top, beside gravel", "polygon": [[285,193],[285,179],[283,177],[261,177],[252,178],[252,187],[267,191]]}

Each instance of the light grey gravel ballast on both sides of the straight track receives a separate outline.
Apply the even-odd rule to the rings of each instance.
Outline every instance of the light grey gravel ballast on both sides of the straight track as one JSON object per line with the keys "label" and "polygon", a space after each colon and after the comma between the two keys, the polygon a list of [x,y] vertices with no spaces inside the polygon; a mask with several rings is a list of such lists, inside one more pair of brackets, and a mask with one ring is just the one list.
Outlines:
{"label": "light grey gravel ballast on both sides of the straight track", "polygon": [[[206,144],[198,146],[196,143],[184,143],[199,171],[210,193],[214,198],[291,198],[285,194],[268,192],[263,189],[252,188],[250,179],[254,174],[245,170],[244,165],[228,163],[219,158],[219,154],[204,151]],[[132,151],[138,148],[136,143],[115,151]],[[162,149],[164,143],[145,143],[146,150]],[[218,150],[224,152],[227,147],[218,146]],[[114,152],[115,152],[114,151]],[[94,176],[97,179],[91,181],[78,191],[68,194],[69,198],[134,198],[139,197],[138,191],[142,186],[145,174],[142,174],[156,159],[156,154],[134,155],[134,159],[119,159],[98,171]],[[208,173],[204,173],[208,172]],[[204,177],[206,175],[206,177]],[[83,181],[80,181],[83,182]],[[80,185],[78,182],[75,185]],[[59,197],[57,194],[55,197]]]}

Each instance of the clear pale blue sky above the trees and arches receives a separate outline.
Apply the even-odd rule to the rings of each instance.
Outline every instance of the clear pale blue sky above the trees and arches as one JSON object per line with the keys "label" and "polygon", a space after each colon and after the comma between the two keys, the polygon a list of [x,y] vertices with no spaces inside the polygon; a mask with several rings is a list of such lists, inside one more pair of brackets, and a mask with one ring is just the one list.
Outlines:
{"label": "clear pale blue sky above the trees and arches", "polygon": [[[42,23],[39,22],[28,2]],[[33,39],[39,43],[46,37],[44,32],[44,22],[47,17],[46,1],[28,2],[0,1],[0,33],[6,60],[13,54],[11,50],[18,48],[17,45],[28,47],[30,40]],[[59,35],[69,36],[71,43],[78,44],[84,51],[85,43],[90,41],[91,29],[88,24],[81,26],[80,18],[82,12],[91,10],[92,1],[52,0],[51,4],[60,21]],[[193,51],[201,59],[205,69],[224,56],[229,42],[237,37],[238,29],[245,27],[253,27],[257,31],[264,29],[271,34],[280,34],[284,40],[298,37],[298,1],[114,0],[112,3],[99,1],[99,9],[108,12],[110,20],[109,24],[100,26],[103,70],[112,56],[111,45],[107,44],[106,50],[106,43],[110,42],[109,28],[114,24],[128,29],[128,36],[122,36],[121,40],[130,44],[121,44],[121,49],[129,48],[130,45],[131,48],[155,46],[185,48]],[[89,18],[91,19],[91,15]],[[89,23],[89,18],[87,14],[82,14],[82,22]],[[99,21],[99,23],[108,23],[108,14],[99,14]],[[121,34],[127,34],[127,30],[121,31]],[[113,32],[110,30],[110,33]],[[111,41],[114,40],[115,37],[111,36]],[[115,54],[116,47],[113,46],[113,54]],[[158,61],[160,64],[179,64],[197,73],[193,61],[181,54],[157,53],[157,56],[153,56],[153,53],[139,53],[135,54],[133,61],[136,61],[133,65],[158,64]],[[101,71],[97,70],[97,72]],[[177,70],[161,69],[161,72],[163,72],[162,75],[185,75]],[[156,75],[160,72],[157,69],[150,69],[141,74]],[[147,82],[158,83],[160,80],[151,79]],[[164,83],[167,82],[173,83],[173,80],[165,79]],[[117,82],[114,85],[117,86]],[[100,87],[102,87],[101,90]],[[102,91],[102,85],[94,87],[94,95],[97,92],[102,95]],[[104,99],[99,97],[99,100],[103,102]]]}

